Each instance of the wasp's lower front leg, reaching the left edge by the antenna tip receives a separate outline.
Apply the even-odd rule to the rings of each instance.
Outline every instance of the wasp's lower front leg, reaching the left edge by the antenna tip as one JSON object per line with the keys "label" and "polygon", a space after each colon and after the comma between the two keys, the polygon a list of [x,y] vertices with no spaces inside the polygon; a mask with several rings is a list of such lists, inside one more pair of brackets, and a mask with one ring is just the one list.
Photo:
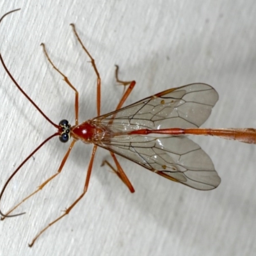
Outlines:
{"label": "wasp's lower front leg, reaching the left edge by the antenna tip", "polygon": [[[72,143],[70,144],[70,147],[68,148],[68,151],[67,153],[65,154],[65,156],[63,157],[62,161],[61,161],[61,164],[60,164],[60,167],[58,168],[58,171],[52,175],[49,179],[45,180],[42,184],[40,184],[40,186],[38,186],[38,188],[33,192],[31,193],[29,196],[27,196],[26,198],[24,198],[19,204],[15,205],[12,209],[10,209],[10,211],[8,211],[6,213],[6,215],[9,215],[11,212],[13,212],[17,207],[19,207],[19,205],[23,204],[26,200],[28,200],[28,198],[30,198],[31,196],[35,195],[38,191],[42,190],[44,188],[44,186],[50,182],[52,179],[54,179],[57,175],[59,175],[61,173],[61,170],[64,166],[64,164],[66,163],[67,161],[67,158],[70,154],[70,151],[72,150],[72,148],[74,147],[74,144],[76,143],[76,140],[73,140]],[[4,220],[5,217],[1,217],[1,220]]]}

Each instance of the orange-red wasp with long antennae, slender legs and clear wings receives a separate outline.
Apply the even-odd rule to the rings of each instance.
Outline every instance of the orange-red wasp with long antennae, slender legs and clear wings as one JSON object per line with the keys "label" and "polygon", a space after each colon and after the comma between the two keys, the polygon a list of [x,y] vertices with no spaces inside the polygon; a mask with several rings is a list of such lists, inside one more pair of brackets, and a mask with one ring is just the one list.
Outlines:
{"label": "orange-red wasp with long antennae, slender legs and clear wings", "polygon": [[[6,13],[0,19],[0,22],[6,15],[16,12],[20,9],[13,10]],[[97,117],[87,120],[81,124],[78,122],[79,112],[79,93],[76,88],[70,83],[66,77],[52,62],[47,54],[45,45],[42,44],[44,54],[51,66],[63,77],[65,82],[74,90],[76,94],[75,100],[75,117],[76,124],[70,125],[67,120],[61,120],[60,123],[54,124],[44,112],[38,108],[35,102],[20,88],[19,84],[15,81],[12,74],[6,67],[2,55],[0,54],[1,63],[6,70],[8,76],[12,79],[13,83],[17,86],[20,92],[35,106],[35,108],[50,122],[57,131],[44,140],[38,147],[29,154],[26,159],[19,165],[19,167],[12,173],[9,179],[3,186],[0,193],[0,200],[6,189],[6,186],[12,180],[13,176],[19,172],[20,168],[28,161],[28,159],[35,154],[47,141],[55,136],[59,136],[60,141],[66,143],[70,139],[72,142],[68,147],[67,153],[61,161],[58,171],[49,179],[45,180],[38,189],[31,195],[22,200],[26,201],[31,196],[35,195],[40,189],[50,182],[54,177],[61,173],[64,164],[74,147],[75,143],[79,140],[84,143],[92,143],[93,151],[88,166],[86,180],[84,184],[83,193],[71,204],[61,216],[56,218],[42,229],[33,239],[29,246],[33,246],[36,239],[58,220],[66,216],[72,208],[83,198],[85,195],[90,175],[92,173],[93,160],[97,147],[106,148],[109,150],[111,157],[115,162],[116,167],[113,167],[108,161],[104,163],[118,175],[118,177],[129,188],[131,193],[134,192],[131,182],[124,173],[124,170],[116,159],[116,154],[134,163],[140,164],[148,170],[170,179],[179,182],[191,188],[200,190],[210,190],[216,188],[220,184],[220,177],[214,169],[214,164],[211,158],[197,145],[190,140],[186,135],[211,135],[225,138],[228,140],[238,140],[245,143],[256,143],[256,130],[251,128],[246,129],[207,129],[198,128],[204,124],[205,120],[211,114],[211,109],[218,100],[218,93],[208,84],[195,83],[172,88],[164,92],[157,93],[156,95],[147,97],[134,104],[122,108],[125,100],[131,93],[135,86],[135,81],[126,82],[118,79],[118,66],[116,66],[116,81],[124,86],[128,86],[125,90],[122,99],[120,100],[115,111],[106,115],[100,115],[100,74],[95,65],[90,53],[84,47],[79,36],[77,35],[74,24],[70,24],[74,34],[79,41],[81,47],[89,56],[92,67],[97,76]],[[1,220],[6,217],[19,216],[24,214],[10,215],[20,204],[15,205],[10,211],[2,215]]]}

